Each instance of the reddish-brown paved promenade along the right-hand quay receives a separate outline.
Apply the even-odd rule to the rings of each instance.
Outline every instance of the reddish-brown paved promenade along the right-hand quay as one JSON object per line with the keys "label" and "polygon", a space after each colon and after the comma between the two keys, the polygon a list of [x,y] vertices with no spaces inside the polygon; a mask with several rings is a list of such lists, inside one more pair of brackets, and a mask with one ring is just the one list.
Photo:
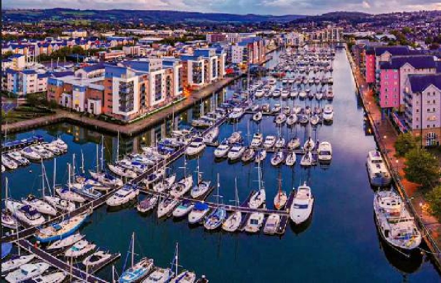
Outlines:
{"label": "reddish-brown paved promenade along the right-hand quay", "polygon": [[365,81],[360,69],[353,61],[352,56],[347,50],[349,62],[354,74],[355,82],[365,106],[368,119],[374,130],[376,140],[380,146],[380,150],[386,157],[389,169],[392,171],[397,188],[404,198],[408,200],[411,210],[415,214],[421,226],[421,231],[426,239],[431,252],[434,253],[437,266],[441,269],[441,224],[438,219],[424,210],[425,201],[418,191],[420,185],[409,181],[404,173],[405,161],[404,157],[397,157],[395,151],[395,141],[399,135],[391,121],[386,117],[382,117],[381,110],[378,107],[374,93]]}

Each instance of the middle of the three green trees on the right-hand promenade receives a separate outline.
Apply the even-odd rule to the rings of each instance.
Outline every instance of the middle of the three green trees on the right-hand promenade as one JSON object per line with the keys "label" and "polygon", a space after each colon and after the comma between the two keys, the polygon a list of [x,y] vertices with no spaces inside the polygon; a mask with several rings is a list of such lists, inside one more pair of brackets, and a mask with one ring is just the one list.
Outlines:
{"label": "middle of the three green trees on the right-hand promenade", "polygon": [[425,149],[414,148],[405,155],[406,177],[423,186],[430,186],[440,177],[440,165],[436,157]]}

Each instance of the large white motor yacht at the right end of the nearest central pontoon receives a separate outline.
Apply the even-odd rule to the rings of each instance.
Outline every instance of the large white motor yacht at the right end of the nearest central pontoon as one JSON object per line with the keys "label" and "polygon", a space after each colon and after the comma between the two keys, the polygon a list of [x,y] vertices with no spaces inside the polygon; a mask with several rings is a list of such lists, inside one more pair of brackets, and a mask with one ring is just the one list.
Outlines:
{"label": "large white motor yacht at the right end of the nearest central pontoon", "polygon": [[304,182],[302,186],[297,188],[289,210],[289,217],[295,224],[305,222],[313,211],[313,204],[314,197],[311,193],[311,188]]}

